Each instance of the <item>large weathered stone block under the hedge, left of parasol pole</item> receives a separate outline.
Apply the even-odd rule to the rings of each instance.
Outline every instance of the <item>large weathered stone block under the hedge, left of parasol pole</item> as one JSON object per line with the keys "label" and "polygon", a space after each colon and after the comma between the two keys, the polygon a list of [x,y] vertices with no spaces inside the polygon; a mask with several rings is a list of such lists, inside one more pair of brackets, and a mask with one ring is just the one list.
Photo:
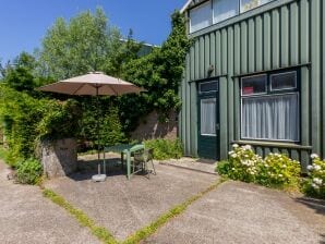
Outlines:
{"label": "large weathered stone block under the hedge, left of parasol pole", "polygon": [[76,141],[73,138],[40,143],[40,159],[48,178],[64,176],[76,170]]}

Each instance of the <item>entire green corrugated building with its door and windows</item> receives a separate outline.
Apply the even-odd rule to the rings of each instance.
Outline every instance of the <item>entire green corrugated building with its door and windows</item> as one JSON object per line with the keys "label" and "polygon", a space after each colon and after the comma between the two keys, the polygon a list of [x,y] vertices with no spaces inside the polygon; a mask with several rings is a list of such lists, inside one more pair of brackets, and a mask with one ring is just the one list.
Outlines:
{"label": "entire green corrugated building with its door and windows", "polygon": [[193,45],[180,88],[188,156],[226,159],[231,144],[325,157],[325,1],[192,0]]}

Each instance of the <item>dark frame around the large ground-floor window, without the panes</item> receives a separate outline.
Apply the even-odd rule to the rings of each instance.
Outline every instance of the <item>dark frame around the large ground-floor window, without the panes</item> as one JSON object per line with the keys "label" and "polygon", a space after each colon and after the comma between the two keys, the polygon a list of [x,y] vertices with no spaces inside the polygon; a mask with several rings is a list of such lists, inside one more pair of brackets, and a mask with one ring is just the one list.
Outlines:
{"label": "dark frame around the large ground-floor window, without the panes", "polygon": [[[270,86],[270,75],[272,74],[281,74],[287,72],[296,72],[296,84],[297,87],[294,89],[286,89],[286,90],[276,90],[272,91],[269,89]],[[242,84],[241,81],[243,77],[249,76],[255,76],[258,74],[265,74],[266,75],[266,94],[257,94],[257,95],[242,95]],[[301,144],[301,69],[298,68],[286,68],[286,69],[277,69],[272,70],[269,72],[258,72],[258,74],[254,73],[253,75],[243,75],[241,76],[239,81],[239,89],[240,89],[240,130],[239,130],[239,138],[240,141],[246,141],[246,142],[261,142],[261,143],[288,143],[288,144]],[[239,76],[238,76],[239,77]],[[265,97],[265,96],[277,96],[277,95],[286,95],[286,94],[298,94],[298,102],[299,102],[299,135],[298,141],[290,141],[290,139],[268,139],[268,138],[246,138],[242,137],[242,99],[250,98],[250,97]]]}

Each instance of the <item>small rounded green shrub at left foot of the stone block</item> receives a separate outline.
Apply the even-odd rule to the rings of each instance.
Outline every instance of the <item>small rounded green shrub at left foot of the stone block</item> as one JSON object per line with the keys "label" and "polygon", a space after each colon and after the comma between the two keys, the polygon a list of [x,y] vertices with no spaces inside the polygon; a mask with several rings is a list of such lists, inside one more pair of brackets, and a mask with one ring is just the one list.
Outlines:
{"label": "small rounded green shrub at left foot of the stone block", "polygon": [[41,164],[37,159],[27,159],[17,163],[16,180],[22,184],[36,184],[41,176]]}

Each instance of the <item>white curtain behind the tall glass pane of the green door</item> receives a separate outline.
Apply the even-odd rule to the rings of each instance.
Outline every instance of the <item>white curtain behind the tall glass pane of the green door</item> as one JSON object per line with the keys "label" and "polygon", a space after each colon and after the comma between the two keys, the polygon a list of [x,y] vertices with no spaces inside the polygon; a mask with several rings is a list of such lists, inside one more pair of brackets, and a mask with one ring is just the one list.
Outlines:
{"label": "white curtain behind the tall glass pane of the green door", "polygon": [[216,98],[201,100],[201,135],[216,135]]}

